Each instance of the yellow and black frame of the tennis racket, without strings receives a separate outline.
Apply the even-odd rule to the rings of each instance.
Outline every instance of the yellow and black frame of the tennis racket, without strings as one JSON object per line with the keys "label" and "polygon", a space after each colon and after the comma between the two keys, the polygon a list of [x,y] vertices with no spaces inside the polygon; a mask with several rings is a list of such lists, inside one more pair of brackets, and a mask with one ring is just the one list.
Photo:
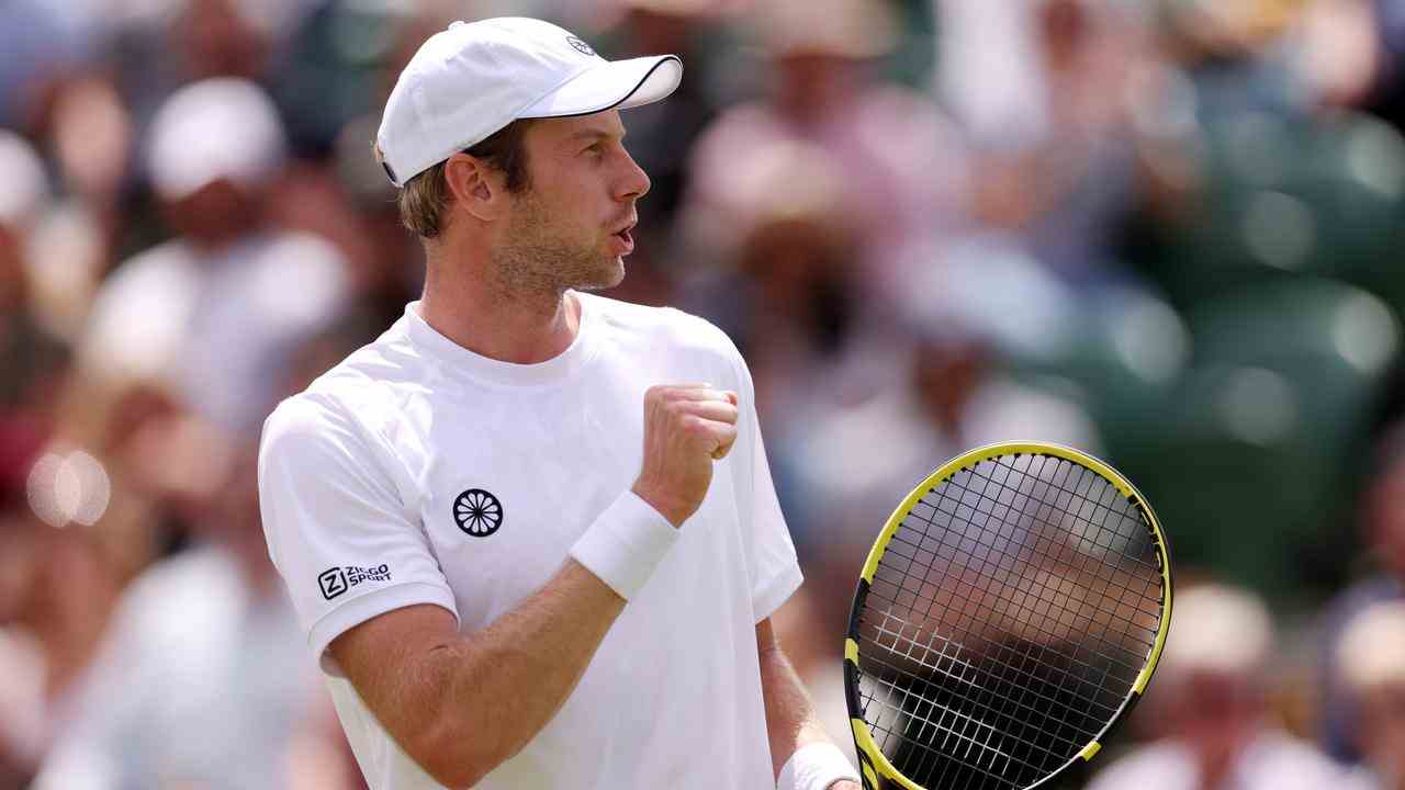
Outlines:
{"label": "yellow and black frame of the tennis racket, without strings", "polygon": [[[1151,682],[1152,672],[1156,671],[1156,663],[1161,661],[1161,651],[1166,645],[1166,633],[1170,628],[1170,599],[1172,599],[1172,585],[1170,585],[1170,552],[1166,543],[1166,533],[1161,527],[1161,522],[1156,519],[1156,513],[1152,512],[1151,505],[1146,498],[1137,491],[1130,479],[1123,477],[1121,472],[1106,464],[1104,461],[1083,453],[1082,450],[1075,450],[1072,447],[1065,447],[1062,444],[1052,444],[1044,441],[1002,441],[998,444],[988,444],[985,447],[976,447],[975,450],[968,450],[961,455],[947,461],[937,471],[927,475],[908,496],[894,509],[892,514],[888,516],[888,522],[884,524],[882,531],[878,533],[878,538],[874,541],[873,548],[868,550],[868,561],[864,562],[863,572],[860,572],[860,589],[867,590],[867,586],[873,583],[874,574],[878,571],[878,562],[882,559],[885,551],[888,551],[888,541],[902,526],[902,520],[908,516],[912,507],[927,495],[929,491],[936,488],[939,484],[944,482],[947,478],[955,475],[961,470],[974,467],[981,461],[989,461],[991,458],[998,458],[1002,455],[1051,455],[1055,458],[1064,458],[1065,461],[1072,461],[1080,467],[1092,470],[1099,477],[1113,484],[1123,496],[1125,496],[1146,519],[1146,527],[1151,531],[1152,545],[1156,548],[1156,562],[1161,566],[1162,579],[1162,617],[1161,627],[1156,630],[1156,640],[1152,642],[1151,654],[1146,656],[1146,665],[1137,675],[1137,680],[1132,683],[1132,690],[1123,700],[1121,707],[1111,717],[1111,720],[1103,727],[1102,731],[1094,735],[1087,745],[1083,746],[1076,755],[1073,755],[1069,762],[1059,766],[1057,770],[1037,782],[1031,787],[1044,784],[1055,776],[1062,775],[1075,760],[1083,759],[1087,762],[1093,759],[1094,755],[1103,748],[1103,738],[1107,732],[1121,721],[1131,704],[1138,700],[1146,692],[1146,683]],[[860,593],[863,595],[863,593]],[[878,790],[878,776],[895,782],[905,790],[927,790],[920,784],[912,782],[906,776],[898,772],[896,768],[884,756],[882,749],[874,741],[873,732],[868,730],[868,724],[860,715],[857,710],[858,689],[858,610],[860,596],[856,596],[856,607],[853,616],[850,617],[850,633],[844,638],[844,685],[847,687],[849,696],[849,724],[853,728],[854,746],[858,749],[860,768],[864,775],[864,786],[873,790]]]}

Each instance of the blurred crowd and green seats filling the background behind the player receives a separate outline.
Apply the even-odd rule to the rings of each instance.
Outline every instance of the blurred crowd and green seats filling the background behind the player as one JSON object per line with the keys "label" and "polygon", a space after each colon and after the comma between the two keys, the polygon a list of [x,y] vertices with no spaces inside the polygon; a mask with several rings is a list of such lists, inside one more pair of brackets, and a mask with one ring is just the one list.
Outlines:
{"label": "blurred crowd and green seats filling the background behind the player", "polygon": [[362,786],[254,447],[416,298],[379,110],[503,14],[684,60],[608,295],[746,356],[836,738],[892,506],[1040,439],[1138,482],[1187,590],[1075,783],[1405,789],[1405,3],[8,0],[0,790]]}

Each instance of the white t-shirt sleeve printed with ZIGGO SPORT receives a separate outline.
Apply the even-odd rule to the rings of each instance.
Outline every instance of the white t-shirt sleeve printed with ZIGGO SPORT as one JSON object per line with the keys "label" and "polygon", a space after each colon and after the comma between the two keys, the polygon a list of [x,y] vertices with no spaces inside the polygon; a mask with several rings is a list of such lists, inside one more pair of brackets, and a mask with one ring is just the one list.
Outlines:
{"label": "white t-shirt sleeve printed with ZIGGO SPORT", "polygon": [[341,672],[327,645],[372,617],[419,603],[458,617],[429,537],[396,486],[396,462],[340,408],[308,395],[264,423],[259,500],[268,555],[330,675]]}

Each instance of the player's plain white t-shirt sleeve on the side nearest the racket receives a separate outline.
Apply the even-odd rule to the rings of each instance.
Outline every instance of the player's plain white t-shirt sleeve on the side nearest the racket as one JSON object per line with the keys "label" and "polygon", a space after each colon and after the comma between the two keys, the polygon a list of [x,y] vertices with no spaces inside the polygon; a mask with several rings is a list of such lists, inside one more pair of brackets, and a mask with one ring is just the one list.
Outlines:
{"label": "player's plain white t-shirt sleeve on the side nearest the racket", "polygon": [[[760,623],[799,589],[804,575],[795,557],[795,544],[791,541],[790,529],[785,526],[785,516],[776,498],[771,468],[766,461],[766,443],[762,440],[762,426],[756,416],[756,389],[752,384],[752,374],[735,349],[732,364],[736,367],[740,385],[738,391],[740,409],[738,441],[747,444],[745,447],[749,450],[746,457],[752,467],[749,471],[739,470],[747,478],[739,481],[738,491],[742,495],[739,509],[743,529],[746,529],[745,536],[752,541],[752,611],[756,621]],[[745,523],[747,520],[749,524]]]}

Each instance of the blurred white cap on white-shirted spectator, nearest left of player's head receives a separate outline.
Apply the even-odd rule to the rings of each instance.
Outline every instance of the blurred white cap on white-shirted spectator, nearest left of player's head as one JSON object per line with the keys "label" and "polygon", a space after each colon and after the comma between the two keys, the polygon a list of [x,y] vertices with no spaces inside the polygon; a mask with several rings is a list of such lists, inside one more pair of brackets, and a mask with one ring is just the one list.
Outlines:
{"label": "blurred white cap on white-shirted spectator, nearest left of player's head", "polygon": [[148,167],[157,194],[181,200],[222,179],[261,186],[285,152],[282,121],[264,90],[216,77],[180,89],[156,111]]}

